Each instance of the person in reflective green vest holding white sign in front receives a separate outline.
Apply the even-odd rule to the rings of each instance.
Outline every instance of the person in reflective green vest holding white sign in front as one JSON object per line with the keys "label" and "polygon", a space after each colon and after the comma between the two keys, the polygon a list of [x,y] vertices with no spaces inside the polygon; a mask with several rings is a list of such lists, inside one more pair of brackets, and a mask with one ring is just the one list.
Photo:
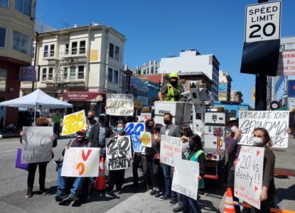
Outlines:
{"label": "person in reflective green vest holding white sign in front", "polygon": [[[190,148],[188,149],[188,153],[186,154],[186,160],[192,160],[199,163],[200,168],[200,176],[198,177],[198,188],[204,188],[204,175],[205,175],[205,153],[203,151],[203,146],[200,141],[200,136],[193,135],[191,138],[187,138],[186,136],[182,137],[183,140],[189,141]],[[200,207],[198,206],[198,201],[194,200],[191,197],[187,197],[183,195],[183,212],[197,212],[200,213]]]}

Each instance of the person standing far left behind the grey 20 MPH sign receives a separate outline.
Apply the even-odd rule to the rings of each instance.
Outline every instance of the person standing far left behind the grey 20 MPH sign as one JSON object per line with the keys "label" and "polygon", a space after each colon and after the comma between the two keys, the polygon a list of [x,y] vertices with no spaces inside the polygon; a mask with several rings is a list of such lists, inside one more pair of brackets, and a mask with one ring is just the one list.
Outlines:
{"label": "person standing far left behind the grey 20 MPH sign", "polygon": [[[49,126],[49,121],[44,116],[41,116],[40,118],[36,119],[36,126]],[[21,131],[20,135],[20,141],[22,143],[22,138],[25,136],[25,132]],[[56,140],[55,136],[50,136],[51,141],[53,142],[53,147],[58,145],[58,141]],[[52,153],[52,158],[54,157]],[[37,166],[39,167],[39,193],[41,195],[48,195],[48,192],[45,190],[45,177],[46,177],[46,167],[49,161],[47,162],[40,162],[40,163],[29,163],[28,165],[28,190],[26,192],[26,197],[32,197],[33,196],[33,185],[35,180],[35,173]]]}

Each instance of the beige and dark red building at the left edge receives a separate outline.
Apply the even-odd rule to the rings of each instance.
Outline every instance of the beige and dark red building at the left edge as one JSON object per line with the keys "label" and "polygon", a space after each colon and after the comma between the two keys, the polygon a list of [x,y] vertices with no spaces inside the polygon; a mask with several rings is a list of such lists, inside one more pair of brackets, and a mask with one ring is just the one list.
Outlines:
{"label": "beige and dark red building at the left edge", "polygon": [[[36,0],[0,1],[0,102],[19,97],[20,67],[31,65],[35,10]],[[1,107],[0,116],[0,126],[18,123],[17,108]]]}

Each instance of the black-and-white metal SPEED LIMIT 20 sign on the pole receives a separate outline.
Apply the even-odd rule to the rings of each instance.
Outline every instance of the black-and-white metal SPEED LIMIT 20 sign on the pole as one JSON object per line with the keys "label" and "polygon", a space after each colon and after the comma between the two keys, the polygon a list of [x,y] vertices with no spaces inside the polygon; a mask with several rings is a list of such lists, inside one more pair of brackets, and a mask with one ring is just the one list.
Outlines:
{"label": "black-and-white metal SPEED LIMIT 20 sign on the pole", "polygon": [[246,7],[245,42],[279,39],[281,34],[281,1]]}

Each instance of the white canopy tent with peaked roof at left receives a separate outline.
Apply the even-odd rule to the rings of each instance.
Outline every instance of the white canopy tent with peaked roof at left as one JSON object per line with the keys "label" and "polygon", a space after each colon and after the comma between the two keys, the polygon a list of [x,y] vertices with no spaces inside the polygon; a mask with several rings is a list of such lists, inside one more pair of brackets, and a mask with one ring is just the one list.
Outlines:
{"label": "white canopy tent with peaked roof at left", "polygon": [[41,89],[36,89],[34,92],[23,97],[1,102],[0,107],[25,107],[35,109],[34,122],[36,120],[36,109],[60,109],[73,108],[73,104],[62,102],[54,97],[43,92]]}

